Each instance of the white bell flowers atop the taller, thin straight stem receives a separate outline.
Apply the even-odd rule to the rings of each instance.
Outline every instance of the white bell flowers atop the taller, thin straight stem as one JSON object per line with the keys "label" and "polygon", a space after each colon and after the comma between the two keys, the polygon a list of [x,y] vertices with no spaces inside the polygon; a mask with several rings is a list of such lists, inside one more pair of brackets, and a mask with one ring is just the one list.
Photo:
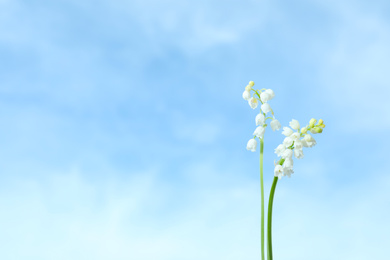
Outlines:
{"label": "white bell flowers atop the taller, thin straight stem", "polygon": [[[258,126],[253,132],[253,138],[250,139],[246,145],[246,149],[255,152],[257,147],[256,137],[262,139],[264,136],[265,128],[267,127],[266,120],[272,119],[270,125],[273,131],[279,130],[282,126],[280,122],[275,119],[274,112],[272,111],[271,106],[267,103],[269,100],[275,97],[275,93],[272,89],[253,89],[255,83],[250,81],[245,87],[244,93],[242,93],[243,99],[248,101],[249,106],[252,109],[256,109],[259,103],[260,112],[255,118],[256,125]],[[253,91],[253,94],[251,93]],[[271,112],[272,117],[266,117],[267,113]]]}

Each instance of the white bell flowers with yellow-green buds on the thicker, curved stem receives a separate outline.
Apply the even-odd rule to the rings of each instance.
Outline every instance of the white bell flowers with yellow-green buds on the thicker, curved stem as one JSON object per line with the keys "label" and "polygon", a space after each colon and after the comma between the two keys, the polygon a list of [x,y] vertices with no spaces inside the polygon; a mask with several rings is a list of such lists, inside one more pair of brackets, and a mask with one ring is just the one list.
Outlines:
{"label": "white bell flowers with yellow-green buds on the thicker, curved stem", "polygon": [[284,138],[283,143],[275,149],[275,153],[278,157],[282,157],[275,165],[274,174],[276,177],[279,179],[282,178],[282,176],[290,177],[291,174],[294,173],[292,156],[294,155],[295,158],[302,159],[303,147],[313,147],[316,145],[316,140],[314,140],[308,132],[311,132],[312,134],[322,133],[322,130],[325,127],[322,119],[318,120],[317,125],[316,123],[317,120],[312,118],[309,125],[302,127],[301,129],[299,122],[293,119],[290,122],[291,128],[283,127],[282,134],[285,135],[286,138]]}

